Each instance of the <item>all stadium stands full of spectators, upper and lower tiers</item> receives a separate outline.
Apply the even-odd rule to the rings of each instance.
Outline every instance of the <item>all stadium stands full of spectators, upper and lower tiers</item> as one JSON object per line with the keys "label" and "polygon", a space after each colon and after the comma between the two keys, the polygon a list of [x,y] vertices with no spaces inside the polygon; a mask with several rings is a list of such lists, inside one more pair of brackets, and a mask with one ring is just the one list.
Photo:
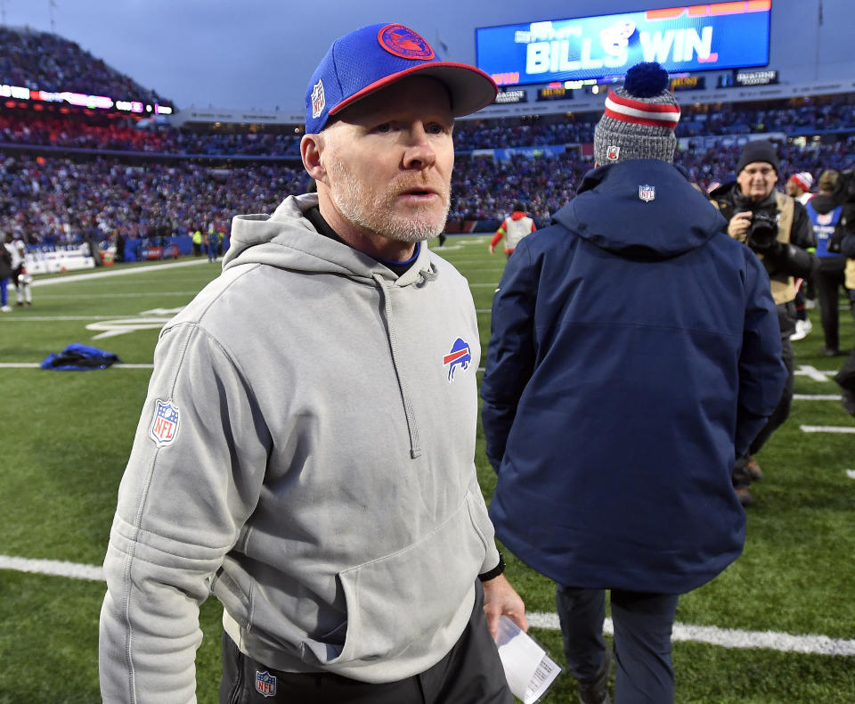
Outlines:
{"label": "all stadium stands full of spectators, upper and lower tiers", "polygon": [[[0,41],[0,83],[160,100],[61,37],[0,28]],[[134,241],[164,227],[182,235],[214,225],[227,234],[235,213],[270,212],[308,181],[302,126],[141,128],[139,116],[39,107],[0,103],[0,231],[33,246],[106,242],[116,233]],[[597,119],[599,112],[460,121],[449,231],[494,229],[517,200],[538,225],[547,222],[592,166],[582,152]],[[737,143],[753,134],[778,139],[784,174],[851,167],[855,95],[688,104],[677,161],[706,189],[733,177]]]}

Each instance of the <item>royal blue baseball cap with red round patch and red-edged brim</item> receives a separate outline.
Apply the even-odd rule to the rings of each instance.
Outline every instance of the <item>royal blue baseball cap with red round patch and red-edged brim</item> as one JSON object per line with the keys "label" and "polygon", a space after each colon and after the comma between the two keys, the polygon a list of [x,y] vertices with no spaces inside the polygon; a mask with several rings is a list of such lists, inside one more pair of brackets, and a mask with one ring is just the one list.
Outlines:
{"label": "royal blue baseball cap with red round patch and red-edged brim", "polygon": [[498,89],[484,71],[437,61],[428,41],[403,24],[372,24],[336,39],[305,92],[305,131],[317,134],[348,105],[412,76],[438,78],[452,99],[452,117],[481,110]]}

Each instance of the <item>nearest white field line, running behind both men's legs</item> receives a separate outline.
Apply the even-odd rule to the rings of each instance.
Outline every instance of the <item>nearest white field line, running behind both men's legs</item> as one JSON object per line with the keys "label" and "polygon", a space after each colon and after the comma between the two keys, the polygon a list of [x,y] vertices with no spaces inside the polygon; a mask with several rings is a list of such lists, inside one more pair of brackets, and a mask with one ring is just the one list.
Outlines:
{"label": "nearest white field line, running behind both men's legs", "polygon": [[[22,557],[0,555],[0,569],[12,569],[29,574],[53,577],[71,577],[92,582],[103,582],[104,572],[100,566],[81,565],[59,560],[28,560]],[[526,615],[529,626],[558,631],[558,614],[533,611]],[[611,618],[606,619],[603,632],[614,635]],[[736,628],[718,626],[692,626],[674,624],[674,641],[708,643],[722,648],[764,649],[780,652],[802,652],[811,655],[855,655],[855,641],[835,640],[827,635],[792,635],[775,631],[741,631]]]}

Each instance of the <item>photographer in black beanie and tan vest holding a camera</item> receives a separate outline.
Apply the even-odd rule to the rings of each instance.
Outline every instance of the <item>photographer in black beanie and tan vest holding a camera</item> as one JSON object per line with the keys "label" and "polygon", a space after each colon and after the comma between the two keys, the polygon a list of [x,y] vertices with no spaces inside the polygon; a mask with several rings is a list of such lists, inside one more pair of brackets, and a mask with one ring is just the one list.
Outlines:
{"label": "photographer in black beanie and tan vest holding a camera", "polygon": [[752,455],[790,414],[793,400],[794,356],[790,335],[795,332],[795,278],[809,279],[818,271],[818,258],[809,250],[817,241],[810,217],[802,203],[775,190],[780,165],[772,143],[758,140],[745,144],[737,162],[737,180],[710,193],[712,204],[728,220],[728,234],[745,242],[761,259],[769,274],[772,298],[778,307],[782,358],[788,372],[786,389],[775,412],[754,438],[748,454],[737,459],[733,486],[743,505],[753,503],[748,486],[761,479]]}

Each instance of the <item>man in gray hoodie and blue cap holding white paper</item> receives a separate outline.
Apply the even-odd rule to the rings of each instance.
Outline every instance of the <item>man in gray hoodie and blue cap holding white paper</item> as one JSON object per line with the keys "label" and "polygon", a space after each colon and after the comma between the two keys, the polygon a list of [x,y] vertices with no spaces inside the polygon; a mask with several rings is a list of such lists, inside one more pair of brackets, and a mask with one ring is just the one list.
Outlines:
{"label": "man in gray hoodie and blue cap holding white paper", "polygon": [[167,324],[104,562],[102,696],[509,703],[490,636],[525,628],[474,465],[476,312],[422,242],[453,118],[496,88],[402,25],[341,37],[306,93],[317,193],[234,218],[223,274]]}

